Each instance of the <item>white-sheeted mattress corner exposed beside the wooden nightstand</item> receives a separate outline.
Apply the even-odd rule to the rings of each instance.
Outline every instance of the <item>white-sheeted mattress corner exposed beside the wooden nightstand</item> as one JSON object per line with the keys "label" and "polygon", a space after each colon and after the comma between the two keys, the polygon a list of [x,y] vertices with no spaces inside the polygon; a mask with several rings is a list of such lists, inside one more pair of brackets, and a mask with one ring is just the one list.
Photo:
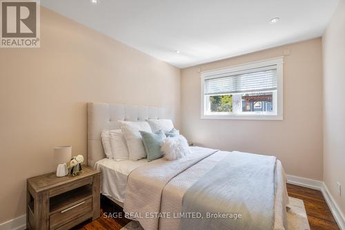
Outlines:
{"label": "white-sheeted mattress corner exposed beside the wooden nightstand", "polygon": [[99,160],[95,169],[101,171],[101,193],[117,203],[124,203],[128,176],[145,164],[148,164],[146,159],[120,162],[108,158]]}

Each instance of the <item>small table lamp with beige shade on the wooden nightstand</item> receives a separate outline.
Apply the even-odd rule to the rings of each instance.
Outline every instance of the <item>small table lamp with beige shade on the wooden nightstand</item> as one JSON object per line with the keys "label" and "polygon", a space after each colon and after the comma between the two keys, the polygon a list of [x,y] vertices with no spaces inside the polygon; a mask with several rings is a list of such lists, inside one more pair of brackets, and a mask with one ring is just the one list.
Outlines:
{"label": "small table lamp with beige shade on the wooden nightstand", "polygon": [[54,148],[55,163],[57,164],[57,177],[68,175],[67,162],[72,156],[72,146],[58,146]]}

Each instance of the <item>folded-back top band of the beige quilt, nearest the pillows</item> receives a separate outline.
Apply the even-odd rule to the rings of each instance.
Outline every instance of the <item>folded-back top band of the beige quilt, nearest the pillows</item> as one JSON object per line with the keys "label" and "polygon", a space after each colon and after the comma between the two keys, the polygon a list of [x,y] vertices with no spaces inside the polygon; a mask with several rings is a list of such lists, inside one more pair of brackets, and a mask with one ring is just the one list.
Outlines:
{"label": "folded-back top band of the beige quilt, nearest the pillows", "polygon": [[146,230],[158,229],[159,217],[146,214],[160,212],[161,193],[166,184],[215,152],[217,150],[211,148],[194,147],[192,153],[179,160],[158,159],[132,171],[126,186],[124,211],[135,215],[128,217],[138,220]]}

